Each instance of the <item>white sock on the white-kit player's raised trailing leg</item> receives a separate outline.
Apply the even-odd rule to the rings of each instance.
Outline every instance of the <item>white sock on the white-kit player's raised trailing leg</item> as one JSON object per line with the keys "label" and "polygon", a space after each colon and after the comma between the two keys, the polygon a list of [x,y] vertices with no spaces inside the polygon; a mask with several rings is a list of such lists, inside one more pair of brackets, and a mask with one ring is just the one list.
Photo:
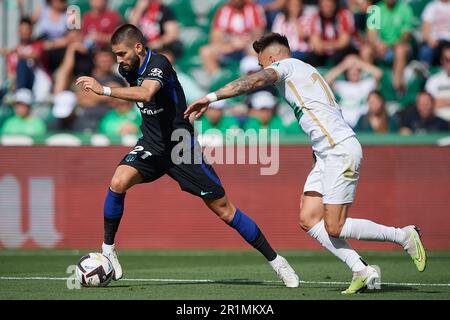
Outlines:
{"label": "white sock on the white-kit player's raised trailing leg", "polygon": [[386,227],[366,219],[347,218],[339,238],[390,241],[405,246],[407,234],[400,228]]}

